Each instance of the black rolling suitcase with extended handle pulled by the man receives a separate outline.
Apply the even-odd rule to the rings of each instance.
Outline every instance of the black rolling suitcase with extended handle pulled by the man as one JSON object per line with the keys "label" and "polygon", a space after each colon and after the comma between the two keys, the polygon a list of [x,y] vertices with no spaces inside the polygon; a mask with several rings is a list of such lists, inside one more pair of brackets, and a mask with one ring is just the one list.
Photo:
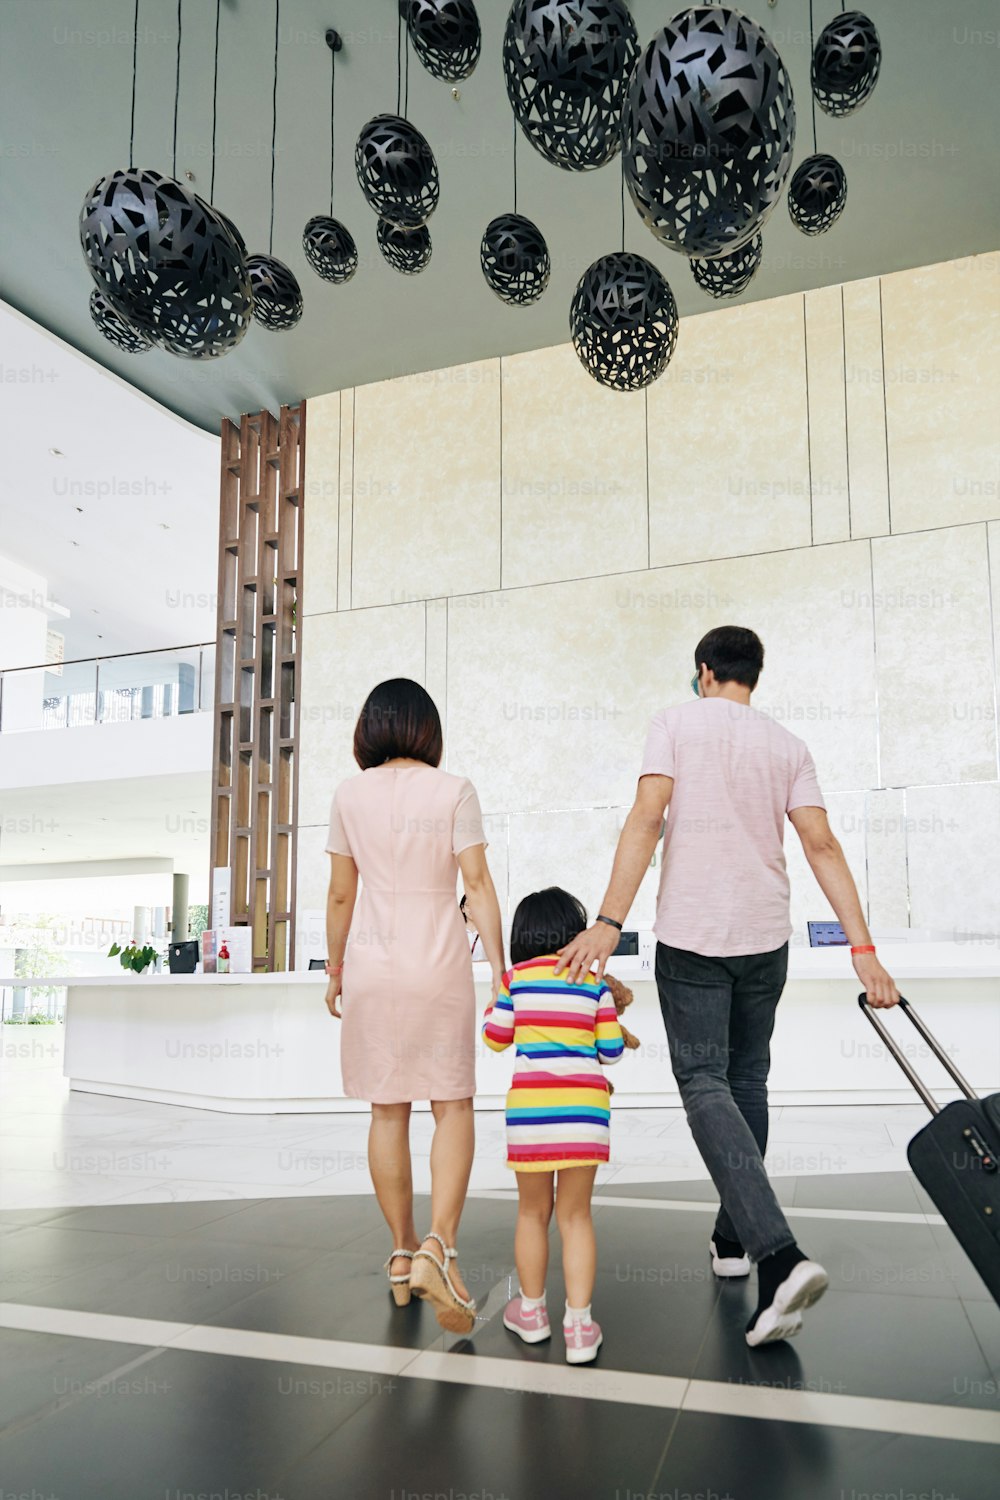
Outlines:
{"label": "black rolling suitcase with extended handle pulled by the man", "polygon": [[966,1095],[942,1108],[867,996],[859,994],[858,1004],[934,1116],[907,1146],[913,1174],[1000,1304],[1000,1094],[981,1100],[909,1000],[900,999],[900,1010]]}

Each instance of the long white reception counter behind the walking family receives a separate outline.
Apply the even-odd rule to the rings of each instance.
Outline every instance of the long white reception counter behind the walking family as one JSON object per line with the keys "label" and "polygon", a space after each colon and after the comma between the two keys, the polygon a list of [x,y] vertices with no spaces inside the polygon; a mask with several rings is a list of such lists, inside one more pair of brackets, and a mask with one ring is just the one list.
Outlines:
{"label": "long white reception counter behind the walking family", "polygon": [[[883,946],[880,956],[970,1083],[981,1094],[997,1090],[1000,952],[988,945],[915,942]],[[481,1012],[489,970],[475,969]],[[615,960],[613,972],[634,990],[627,1024],[642,1042],[610,1070],[615,1102],[676,1104],[648,963]],[[231,1113],[366,1108],[343,1095],[340,1023],[324,1005],[322,974],[118,972],[34,982],[66,987],[63,1071],[72,1089]],[[861,1014],[858,990],[843,948],[792,951],[772,1042],[772,1104],[915,1101]],[[954,1098],[916,1030],[900,1012],[891,1024],[939,1096]],[[492,1053],[480,1042],[478,1107],[502,1106],[511,1065],[511,1053]]]}

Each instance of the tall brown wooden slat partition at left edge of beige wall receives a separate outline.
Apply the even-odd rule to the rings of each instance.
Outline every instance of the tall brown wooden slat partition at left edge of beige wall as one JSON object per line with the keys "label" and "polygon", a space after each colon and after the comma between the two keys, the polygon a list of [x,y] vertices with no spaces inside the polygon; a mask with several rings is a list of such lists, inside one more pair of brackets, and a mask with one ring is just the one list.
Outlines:
{"label": "tall brown wooden slat partition at left edge of beige wall", "polygon": [[306,402],[222,424],[213,872],[255,970],[295,952],[298,663]]}

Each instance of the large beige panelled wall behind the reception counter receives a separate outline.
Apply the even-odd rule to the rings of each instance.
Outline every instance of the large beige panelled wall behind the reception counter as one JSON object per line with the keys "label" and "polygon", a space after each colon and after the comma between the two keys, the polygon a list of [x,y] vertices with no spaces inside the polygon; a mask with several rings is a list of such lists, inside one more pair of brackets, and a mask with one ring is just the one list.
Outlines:
{"label": "large beige panelled wall behind the reception counter", "polygon": [[988,255],[690,316],[646,396],[561,345],[310,399],[300,904],[364,693],[408,675],[505,910],[592,908],[651,714],[744,622],[871,921],[1000,930],[999,288]]}

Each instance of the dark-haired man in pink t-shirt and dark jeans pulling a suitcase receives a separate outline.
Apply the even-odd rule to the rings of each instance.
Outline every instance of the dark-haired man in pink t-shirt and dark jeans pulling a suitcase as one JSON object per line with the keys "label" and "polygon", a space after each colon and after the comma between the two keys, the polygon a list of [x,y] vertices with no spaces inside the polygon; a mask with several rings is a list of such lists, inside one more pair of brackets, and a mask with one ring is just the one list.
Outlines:
{"label": "dark-haired man in pink t-shirt and dark jeans pulling a suitcase", "polygon": [[660,1008],[691,1134],[721,1198],[712,1269],[745,1276],[757,1263],[759,1305],[747,1326],[757,1346],[798,1334],[802,1310],[828,1286],[796,1245],[763,1166],[771,1034],[792,936],[786,816],[852,944],[868,1000],[888,1006],[900,994],[876,957],[808,748],[750,706],[763,668],[759,638],[739,626],[709,630],[694,664],[697,702],[652,720],[600,915],[562,957],[570,980],[595,964],[604,974],[663,832]]}

